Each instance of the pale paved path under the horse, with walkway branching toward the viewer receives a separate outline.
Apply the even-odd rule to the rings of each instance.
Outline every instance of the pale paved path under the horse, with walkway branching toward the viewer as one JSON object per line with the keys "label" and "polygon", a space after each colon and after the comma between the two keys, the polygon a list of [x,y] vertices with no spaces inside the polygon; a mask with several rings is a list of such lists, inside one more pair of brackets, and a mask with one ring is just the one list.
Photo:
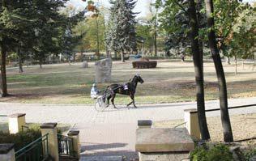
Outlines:
{"label": "pale paved path under the horse, with walkway branching toward the viewer", "polygon": [[[229,106],[256,104],[256,98],[228,100]],[[195,102],[174,104],[143,104],[139,108],[119,106],[96,112],[92,106],[56,104],[0,103],[0,115],[27,113],[27,122],[59,122],[80,130],[83,155],[136,155],[134,153],[137,121],[175,120],[183,118],[183,110],[196,108]],[[207,101],[206,108],[219,108],[219,101]],[[256,107],[229,110],[230,114],[253,113]],[[220,111],[207,112],[207,117],[219,116]],[[3,121],[0,117],[0,121]]]}

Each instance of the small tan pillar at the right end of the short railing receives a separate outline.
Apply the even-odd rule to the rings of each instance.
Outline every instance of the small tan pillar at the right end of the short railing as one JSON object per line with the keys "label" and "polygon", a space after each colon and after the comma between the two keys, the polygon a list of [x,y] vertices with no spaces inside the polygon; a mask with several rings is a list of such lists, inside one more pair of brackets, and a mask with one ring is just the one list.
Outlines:
{"label": "small tan pillar at the right end of the short railing", "polygon": [[77,156],[78,159],[80,159],[80,141],[79,141],[79,131],[78,130],[72,130],[67,133],[67,136],[69,138],[73,139],[73,148],[75,151],[75,156]]}

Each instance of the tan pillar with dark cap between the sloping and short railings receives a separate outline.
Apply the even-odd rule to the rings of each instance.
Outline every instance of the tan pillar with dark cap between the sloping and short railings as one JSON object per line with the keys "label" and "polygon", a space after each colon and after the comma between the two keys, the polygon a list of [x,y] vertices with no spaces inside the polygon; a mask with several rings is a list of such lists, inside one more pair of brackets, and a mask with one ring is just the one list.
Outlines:
{"label": "tan pillar with dark cap between the sloping and short railings", "polygon": [[58,138],[57,138],[57,123],[45,123],[40,126],[42,136],[48,133],[49,155],[54,161],[59,160],[58,156]]}

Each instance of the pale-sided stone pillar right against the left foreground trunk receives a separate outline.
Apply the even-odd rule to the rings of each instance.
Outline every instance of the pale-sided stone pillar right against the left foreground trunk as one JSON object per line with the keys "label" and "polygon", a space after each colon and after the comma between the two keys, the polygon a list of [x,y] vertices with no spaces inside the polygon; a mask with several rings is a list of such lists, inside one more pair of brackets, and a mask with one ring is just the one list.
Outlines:
{"label": "pale-sided stone pillar right against the left foreground trunk", "polygon": [[199,129],[197,109],[185,109],[184,121],[186,122],[186,129],[189,131],[191,138],[199,140],[201,138],[201,133]]}

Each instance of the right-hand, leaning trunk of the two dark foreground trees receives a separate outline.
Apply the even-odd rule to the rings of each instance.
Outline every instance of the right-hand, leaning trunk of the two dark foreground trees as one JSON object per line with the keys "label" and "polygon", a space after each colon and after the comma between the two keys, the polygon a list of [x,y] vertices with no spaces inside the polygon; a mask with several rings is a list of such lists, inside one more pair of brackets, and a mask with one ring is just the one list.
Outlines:
{"label": "right-hand, leaning trunk of the two dark foreground trees", "polygon": [[219,91],[220,91],[220,113],[221,113],[221,122],[224,133],[224,142],[233,142],[233,133],[231,129],[231,124],[228,114],[228,95],[227,95],[227,85],[224,74],[224,69],[222,66],[220,53],[217,48],[217,41],[215,39],[214,29],[214,18],[213,14],[213,2],[212,0],[205,0],[206,10],[207,10],[207,25],[208,28],[211,28],[208,33],[209,46],[211,49],[211,56],[215,64],[215,70],[219,82]]}

